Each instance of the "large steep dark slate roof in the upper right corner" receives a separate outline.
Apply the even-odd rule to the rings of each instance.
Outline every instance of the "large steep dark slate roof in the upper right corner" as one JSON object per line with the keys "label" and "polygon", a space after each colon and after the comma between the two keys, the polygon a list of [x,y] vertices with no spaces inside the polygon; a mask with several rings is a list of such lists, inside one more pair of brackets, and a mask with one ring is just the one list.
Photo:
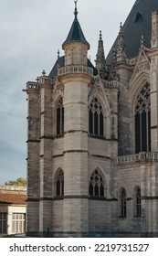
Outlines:
{"label": "large steep dark slate roof in the upper right corner", "polygon": [[[133,5],[132,11],[122,27],[126,54],[129,59],[138,55],[142,35],[145,40],[145,47],[151,47],[152,12],[154,10],[158,10],[158,0],[137,0]],[[117,39],[107,56],[107,64],[111,64],[113,48],[116,45]]]}

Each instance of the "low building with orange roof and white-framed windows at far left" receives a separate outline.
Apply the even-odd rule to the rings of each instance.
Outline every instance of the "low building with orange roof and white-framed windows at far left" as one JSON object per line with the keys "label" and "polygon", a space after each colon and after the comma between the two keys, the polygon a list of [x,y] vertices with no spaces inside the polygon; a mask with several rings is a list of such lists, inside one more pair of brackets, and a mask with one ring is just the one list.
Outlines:
{"label": "low building with orange roof and white-framed windows at far left", "polygon": [[0,186],[0,236],[26,232],[26,187]]}

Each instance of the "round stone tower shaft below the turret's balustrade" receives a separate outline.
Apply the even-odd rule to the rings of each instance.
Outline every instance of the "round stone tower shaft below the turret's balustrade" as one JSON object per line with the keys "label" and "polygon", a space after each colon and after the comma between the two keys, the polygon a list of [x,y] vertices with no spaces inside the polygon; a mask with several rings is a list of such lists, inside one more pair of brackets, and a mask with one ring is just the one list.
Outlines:
{"label": "round stone tower shaft below the turret's balustrade", "polygon": [[[64,227],[66,234],[89,231],[88,83],[90,76],[69,74],[64,83]],[[74,234],[75,233],[75,234]]]}

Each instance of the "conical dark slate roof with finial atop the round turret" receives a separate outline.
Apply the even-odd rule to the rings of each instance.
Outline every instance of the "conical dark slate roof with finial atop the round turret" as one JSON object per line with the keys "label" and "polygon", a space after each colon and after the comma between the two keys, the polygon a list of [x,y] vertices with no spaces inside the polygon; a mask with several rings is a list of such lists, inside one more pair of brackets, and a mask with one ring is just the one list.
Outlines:
{"label": "conical dark slate roof with finial atop the round turret", "polygon": [[69,30],[69,33],[68,33],[68,37],[67,39],[65,40],[65,42],[63,43],[63,45],[69,43],[69,42],[82,42],[82,43],[85,43],[85,44],[88,44],[88,41],[86,40],[84,34],[83,34],[83,31],[79,25],[79,20],[78,20],[78,10],[77,10],[77,1],[75,1],[75,12],[74,12],[74,15],[75,15],[75,19],[72,23],[72,26]]}

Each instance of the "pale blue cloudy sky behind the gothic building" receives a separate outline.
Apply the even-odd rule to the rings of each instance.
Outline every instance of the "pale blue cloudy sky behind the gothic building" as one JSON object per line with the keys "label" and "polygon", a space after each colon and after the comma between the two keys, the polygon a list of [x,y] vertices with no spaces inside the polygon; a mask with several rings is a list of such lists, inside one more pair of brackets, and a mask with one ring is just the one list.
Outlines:
{"label": "pale blue cloudy sky behind the gothic building", "polygon": [[[100,30],[108,54],[135,0],[79,0],[94,59]],[[73,22],[73,0],[0,0],[0,184],[26,177],[26,88],[52,69]]]}

